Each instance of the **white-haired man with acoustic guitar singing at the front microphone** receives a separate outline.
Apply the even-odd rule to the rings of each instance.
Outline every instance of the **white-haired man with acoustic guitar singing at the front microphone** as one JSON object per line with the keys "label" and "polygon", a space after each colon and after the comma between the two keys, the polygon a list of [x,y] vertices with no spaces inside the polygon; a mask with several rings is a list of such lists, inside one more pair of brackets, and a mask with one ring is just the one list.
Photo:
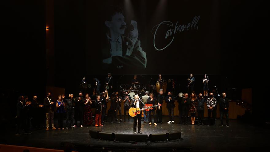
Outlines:
{"label": "white-haired man with acoustic guitar singing at the front microphone", "polygon": [[[139,95],[135,95],[135,99],[133,99],[131,101],[131,105],[130,107],[133,107],[133,108],[139,108],[139,109],[143,109],[143,104],[142,104],[142,100],[139,99]],[[136,132],[136,127],[137,127],[137,120],[138,120],[138,130]],[[135,117],[133,117],[133,133],[136,134],[142,134],[141,132],[141,113],[140,114],[137,114]]]}

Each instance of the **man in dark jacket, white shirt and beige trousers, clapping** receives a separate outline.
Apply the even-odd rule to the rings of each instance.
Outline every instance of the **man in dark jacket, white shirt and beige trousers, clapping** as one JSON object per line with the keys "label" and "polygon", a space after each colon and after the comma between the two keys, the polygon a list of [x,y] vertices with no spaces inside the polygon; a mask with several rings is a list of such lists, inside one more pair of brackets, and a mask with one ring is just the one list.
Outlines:
{"label": "man in dark jacket, white shirt and beige trousers, clapping", "polygon": [[51,92],[47,93],[47,97],[44,99],[44,107],[45,107],[45,111],[46,111],[46,130],[49,130],[49,124],[50,124],[50,120],[51,120],[51,124],[52,124],[52,129],[56,130],[56,128],[54,127],[54,122],[53,122],[53,116],[54,116],[54,107],[55,104],[51,99]]}

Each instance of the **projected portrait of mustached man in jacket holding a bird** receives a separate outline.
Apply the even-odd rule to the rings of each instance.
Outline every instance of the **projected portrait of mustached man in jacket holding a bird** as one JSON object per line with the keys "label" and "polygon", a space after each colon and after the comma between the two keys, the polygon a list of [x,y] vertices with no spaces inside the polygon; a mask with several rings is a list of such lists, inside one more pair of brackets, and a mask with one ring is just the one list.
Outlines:
{"label": "projected portrait of mustached man in jacket holding a bird", "polygon": [[112,6],[106,10],[106,43],[102,44],[102,68],[145,69],[146,53],[138,38],[137,22],[131,21],[128,37],[123,36],[127,28],[122,9]]}

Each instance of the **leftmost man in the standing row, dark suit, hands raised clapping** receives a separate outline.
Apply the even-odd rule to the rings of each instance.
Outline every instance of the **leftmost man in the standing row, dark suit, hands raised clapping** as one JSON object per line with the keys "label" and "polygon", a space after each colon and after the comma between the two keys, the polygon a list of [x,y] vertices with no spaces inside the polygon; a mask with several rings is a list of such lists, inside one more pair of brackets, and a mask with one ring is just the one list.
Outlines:
{"label": "leftmost man in the standing row, dark suit, hands raised clapping", "polygon": [[17,103],[17,128],[16,128],[16,135],[20,134],[21,127],[24,128],[25,134],[31,134],[32,132],[29,132],[29,128],[26,125],[27,121],[27,112],[29,110],[31,102],[27,101],[25,102],[23,96],[19,96],[18,103]]}

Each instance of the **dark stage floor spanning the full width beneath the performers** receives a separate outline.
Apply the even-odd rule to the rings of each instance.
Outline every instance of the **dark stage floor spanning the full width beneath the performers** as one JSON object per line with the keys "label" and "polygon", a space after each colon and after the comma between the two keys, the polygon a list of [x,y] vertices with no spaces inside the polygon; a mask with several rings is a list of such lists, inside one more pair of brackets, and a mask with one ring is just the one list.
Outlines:
{"label": "dark stage floor spanning the full width beneath the performers", "polygon": [[[219,126],[193,126],[168,124],[168,116],[164,116],[163,124],[158,123],[157,126],[141,123],[141,131],[144,134],[181,132],[180,140],[163,141],[163,142],[115,142],[104,141],[91,138],[89,130],[99,131],[100,127],[77,127],[74,129],[64,130],[38,130],[28,135],[15,135],[15,128],[7,128],[1,133],[1,144],[31,146],[39,148],[62,149],[61,143],[68,142],[74,145],[84,147],[95,147],[96,151],[101,151],[97,147],[108,147],[118,151],[119,149],[134,148],[136,151],[148,148],[148,151],[154,149],[172,149],[186,151],[255,151],[267,147],[269,149],[269,126],[255,127],[253,125],[244,124],[237,120],[230,120],[230,127]],[[178,120],[178,117],[175,117]],[[225,121],[225,120],[224,120]],[[57,122],[57,121],[55,121]],[[176,121],[177,122],[177,121]],[[219,124],[218,119],[216,124]],[[57,126],[57,124],[56,124]],[[130,123],[107,123],[102,127],[103,132],[113,133],[133,133],[133,119]],[[117,148],[118,147],[118,148]],[[135,149],[138,148],[138,149]],[[90,150],[91,148],[87,148]],[[92,148],[93,149],[93,148]],[[113,150],[113,151],[114,151]],[[170,151],[170,150],[165,150]]]}

